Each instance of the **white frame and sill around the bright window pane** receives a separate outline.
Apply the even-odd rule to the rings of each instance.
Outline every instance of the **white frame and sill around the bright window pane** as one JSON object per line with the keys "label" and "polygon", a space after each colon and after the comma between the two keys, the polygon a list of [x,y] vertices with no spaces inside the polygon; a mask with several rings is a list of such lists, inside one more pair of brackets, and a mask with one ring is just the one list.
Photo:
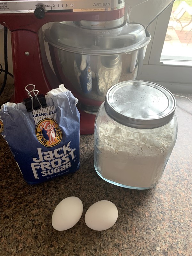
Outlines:
{"label": "white frame and sill around the bright window pane", "polygon": [[142,74],[138,79],[160,84],[172,92],[192,93],[192,66],[188,66],[187,62],[173,65],[170,61],[167,65],[160,61],[172,6],[166,8],[148,27],[151,42],[147,46]]}

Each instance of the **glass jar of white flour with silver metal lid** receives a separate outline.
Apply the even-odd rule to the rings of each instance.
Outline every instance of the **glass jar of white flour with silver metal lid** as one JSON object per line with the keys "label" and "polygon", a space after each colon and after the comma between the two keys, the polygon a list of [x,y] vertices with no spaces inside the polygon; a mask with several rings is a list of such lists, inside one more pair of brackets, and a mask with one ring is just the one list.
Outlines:
{"label": "glass jar of white flour with silver metal lid", "polygon": [[177,138],[176,101],[145,81],[112,86],[95,120],[94,167],[112,184],[133,189],[159,182]]}

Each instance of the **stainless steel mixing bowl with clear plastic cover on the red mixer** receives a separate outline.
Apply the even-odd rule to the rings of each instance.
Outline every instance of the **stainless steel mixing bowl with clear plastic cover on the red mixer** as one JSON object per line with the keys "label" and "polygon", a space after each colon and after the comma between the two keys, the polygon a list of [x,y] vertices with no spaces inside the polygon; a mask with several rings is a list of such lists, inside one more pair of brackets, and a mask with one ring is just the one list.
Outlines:
{"label": "stainless steel mixing bowl with clear plastic cover on the red mixer", "polygon": [[150,34],[140,24],[90,29],[83,23],[54,23],[44,31],[57,77],[80,107],[95,114],[108,89],[141,73]]}

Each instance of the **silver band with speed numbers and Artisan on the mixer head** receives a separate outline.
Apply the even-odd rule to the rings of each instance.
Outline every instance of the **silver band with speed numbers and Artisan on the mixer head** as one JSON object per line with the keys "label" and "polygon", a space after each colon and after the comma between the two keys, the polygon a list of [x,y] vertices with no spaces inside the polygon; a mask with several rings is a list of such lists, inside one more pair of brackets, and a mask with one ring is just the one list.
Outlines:
{"label": "silver band with speed numbers and Artisan on the mixer head", "polygon": [[36,8],[44,10],[73,10],[74,12],[113,11],[124,8],[124,0],[23,0],[0,1],[0,13],[34,12]]}

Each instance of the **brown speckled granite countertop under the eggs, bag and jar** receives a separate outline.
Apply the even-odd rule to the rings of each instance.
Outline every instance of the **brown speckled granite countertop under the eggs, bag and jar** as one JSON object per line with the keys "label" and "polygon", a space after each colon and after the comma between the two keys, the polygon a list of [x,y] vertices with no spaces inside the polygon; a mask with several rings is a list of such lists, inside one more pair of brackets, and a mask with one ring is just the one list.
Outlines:
{"label": "brown speckled granite countertop under the eggs, bag and jar", "polygon": [[[177,142],[161,181],[149,190],[102,180],[93,166],[93,135],[81,136],[76,173],[27,185],[0,137],[0,255],[191,256],[192,103],[176,99]],[[68,196],[82,200],[83,215],[73,228],[56,231],[52,212]],[[86,210],[99,200],[112,201],[119,211],[116,224],[101,232],[84,222]]]}

